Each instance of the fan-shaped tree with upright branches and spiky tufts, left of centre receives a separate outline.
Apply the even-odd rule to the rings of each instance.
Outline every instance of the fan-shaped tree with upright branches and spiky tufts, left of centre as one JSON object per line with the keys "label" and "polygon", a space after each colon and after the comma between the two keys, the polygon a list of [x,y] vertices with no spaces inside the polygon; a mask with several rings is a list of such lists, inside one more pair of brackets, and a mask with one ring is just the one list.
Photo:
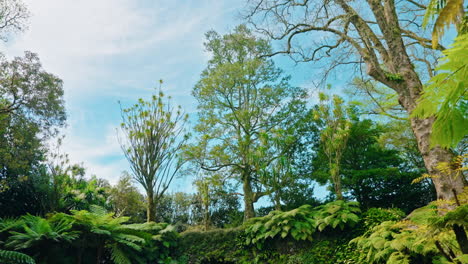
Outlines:
{"label": "fan-shaped tree with upright branches and spiky tufts, left of centre", "polygon": [[121,110],[119,141],[133,178],[146,192],[148,222],[155,221],[157,203],[184,164],[179,152],[188,139],[188,116],[170,100],[159,89],[151,100]]}

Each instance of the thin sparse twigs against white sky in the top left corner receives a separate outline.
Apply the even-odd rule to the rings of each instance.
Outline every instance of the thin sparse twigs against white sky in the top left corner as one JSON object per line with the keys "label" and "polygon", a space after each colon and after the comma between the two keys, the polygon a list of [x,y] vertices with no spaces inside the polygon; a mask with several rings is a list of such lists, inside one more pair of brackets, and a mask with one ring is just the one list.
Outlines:
{"label": "thin sparse twigs against white sky in the top left corner", "polygon": [[0,0],[0,40],[7,41],[8,34],[24,31],[30,14],[21,0]]}

